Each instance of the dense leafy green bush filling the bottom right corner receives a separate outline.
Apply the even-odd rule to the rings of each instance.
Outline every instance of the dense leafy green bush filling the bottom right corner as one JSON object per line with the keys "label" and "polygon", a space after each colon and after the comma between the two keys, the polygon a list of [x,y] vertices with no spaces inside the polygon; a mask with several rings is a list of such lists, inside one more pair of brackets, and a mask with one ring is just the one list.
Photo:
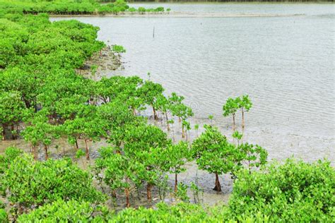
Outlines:
{"label": "dense leafy green bush filling the bottom right corner", "polygon": [[335,171],[329,162],[307,164],[286,160],[264,171],[242,171],[229,201],[232,215],[261,212],[271,222],[332,222]]}

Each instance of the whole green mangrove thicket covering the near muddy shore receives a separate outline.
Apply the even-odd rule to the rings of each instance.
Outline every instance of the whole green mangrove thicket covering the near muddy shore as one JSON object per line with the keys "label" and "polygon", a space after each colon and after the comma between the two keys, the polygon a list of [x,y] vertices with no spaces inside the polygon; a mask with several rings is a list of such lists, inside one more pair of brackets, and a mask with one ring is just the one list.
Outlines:
{"label": "whole green mangrove thicket covering the near muddy shore", "polygon": [[[223,115],[233,116],[237,143],[213,124],[204,125],[204,132],[191,143],[186,139],[194,113],[181,95],[166,95],[162,85],[138,76],[93,80],[76,73],[105,47],[97,40],[99,28],[77,20],[50,22],[45,13],[25,15],[11,8],[0,15],[1,138],[23,138],[31,151],[8,147],[0,156],[0,222],[334,219],[335,172],[329,162],[288,159],[266,164],[264,148],[242,142],[235,116],[240,109],[245,128],[245,112],[252,108],[248,95],[229,98],[223,105]],[[125,51],[120,46],[113,49],[115,54]],[[94,75],[96,67],[91,69]],[[143,116],[148,109],[152,116]],[[165,129],[155,125],[158,120]],[[184,140],[175,142],[168,133],[178,120]],[[49,146],[59,138],[68,141],[76,157],[49,158]],[[90,159],[89,142],[102,139],[108,146],[98,150],[99,157],[89,167],[79,168],[78,159]],[[193,161],[215,176],[217,193],[222,193],[219,176],[232,176],[228,205],[206,207],[196,182],[178,182],[178,174],[187,171],[184,164]],[[174,185],[167,182],[167,174],[174,174]],[[131,207],[131,194],[143,188],[146,199],[153,200],[153,187],[162,200],[155,209],[115,213],[107,206],[112,198],[124,199],[124,206]],[[194,194],[192,203],[187,190]],[[175,205],[163,203],[169,192]]]}

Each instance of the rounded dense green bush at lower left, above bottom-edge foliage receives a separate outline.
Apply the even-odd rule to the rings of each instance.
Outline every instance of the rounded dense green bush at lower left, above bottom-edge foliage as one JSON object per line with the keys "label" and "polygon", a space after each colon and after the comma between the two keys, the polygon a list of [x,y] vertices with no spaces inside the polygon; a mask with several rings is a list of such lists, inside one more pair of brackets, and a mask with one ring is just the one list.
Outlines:
{"label": "rounded dense green bush at lower left, above bottom-edge foliage", "polygon": [[23,155],[11,162],[4,172],[3,185],[11,203],[22,207],[52,203],[58,199],[100,202],[103,195],[92,185],[90,175],[67,159],[33,162]]}

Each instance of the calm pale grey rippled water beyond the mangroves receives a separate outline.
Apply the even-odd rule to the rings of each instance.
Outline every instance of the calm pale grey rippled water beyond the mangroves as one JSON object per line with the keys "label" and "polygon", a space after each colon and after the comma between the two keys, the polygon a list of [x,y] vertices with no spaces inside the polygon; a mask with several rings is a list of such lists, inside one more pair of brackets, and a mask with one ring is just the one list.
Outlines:
{"label": "calm pale grey rippled water beyond the mangroves", "polygon": [[[247,93],[254,103],[247,140],[274,158],[334,159],[334,4],[134,4],[158,5],[201,17],[76,18],[127,49],[124,70],[106,75],[150,72],[167,93],[186,97],[196,122],[213,114],[223,129],[231,120],[222,104]],[[235,17],[213,17],[219,14]],[[245,14],[280,16],[239,17]],[[67,18],[52,20],[59,19]]]}

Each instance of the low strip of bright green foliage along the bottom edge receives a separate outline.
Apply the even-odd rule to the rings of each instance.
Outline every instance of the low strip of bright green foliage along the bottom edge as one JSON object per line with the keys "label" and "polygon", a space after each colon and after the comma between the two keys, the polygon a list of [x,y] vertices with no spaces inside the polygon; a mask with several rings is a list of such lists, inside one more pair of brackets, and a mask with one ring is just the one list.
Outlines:
{"label": "low strip of bright green foliage along the bottom edge", "polygon": [[[158,203],[155,208],[126,208],[114,213],[108,212],[104,206],[74,200],[58,200],[29,214],[20,215],[18,222],[237,222],[229,219],[227,213],[228,209],[224,205],[202,207],[191,203]],[[239,218],[239,222],[248,223],[267,220],[268,218],[261,214]]]}

